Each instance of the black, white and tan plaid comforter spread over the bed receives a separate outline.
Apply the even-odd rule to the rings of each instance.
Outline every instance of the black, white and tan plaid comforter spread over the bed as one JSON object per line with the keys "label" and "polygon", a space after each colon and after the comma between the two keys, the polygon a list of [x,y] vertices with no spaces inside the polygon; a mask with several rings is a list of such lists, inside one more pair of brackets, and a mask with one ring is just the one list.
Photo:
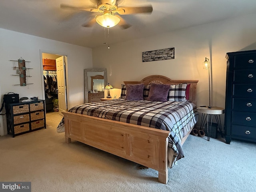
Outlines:
{"label": "black, white and tan plaid comforter spread over the bed", "polygon": [[[69,112],[168,130],[171,132],[168,146],[174,150],[176,160],[184,157],[181,140],[198,120],[196,106],[190,101],[152,102],[116,99],[81,104],[71,108]],[[57,131],[64,131],[64,118]]]}

